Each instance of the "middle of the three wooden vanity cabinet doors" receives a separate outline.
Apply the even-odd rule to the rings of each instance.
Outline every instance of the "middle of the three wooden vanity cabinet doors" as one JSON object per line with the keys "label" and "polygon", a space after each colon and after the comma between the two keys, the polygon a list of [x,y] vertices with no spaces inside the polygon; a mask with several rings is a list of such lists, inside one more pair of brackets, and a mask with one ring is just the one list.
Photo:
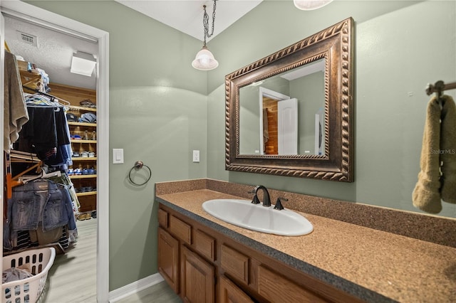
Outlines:
{"label": "middle of the three wooden vanity cabinet doors", "polygon": [[180,260],[180,296],[184,302],[215,302],[214,266],[185,246],[181,247]]}

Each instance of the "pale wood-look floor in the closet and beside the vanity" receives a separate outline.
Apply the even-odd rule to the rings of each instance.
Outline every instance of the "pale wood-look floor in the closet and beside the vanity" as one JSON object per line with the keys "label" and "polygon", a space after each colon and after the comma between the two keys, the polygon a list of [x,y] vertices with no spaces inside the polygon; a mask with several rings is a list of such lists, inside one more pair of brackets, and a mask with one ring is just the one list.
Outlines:
{"label": "pale wood-look floor in the closet and beside the vanity", "polygon": [[[56,255],[39,303],[96,303],[97,220],[78,220],[78,241]],[[120,303],[177,303],[181,299],[166,282],[120,299]]]}

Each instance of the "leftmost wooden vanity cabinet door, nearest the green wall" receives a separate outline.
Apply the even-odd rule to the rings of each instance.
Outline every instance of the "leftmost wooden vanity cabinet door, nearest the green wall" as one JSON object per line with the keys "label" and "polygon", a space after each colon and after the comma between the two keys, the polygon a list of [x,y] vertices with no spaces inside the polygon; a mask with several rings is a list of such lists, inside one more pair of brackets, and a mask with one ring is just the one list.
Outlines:
{"label": "leftmost wooden vanity cabinet door, nearest the green wall", "polygon": [[179,294],[179,241],[162,228],[158,228],[158,271]]}

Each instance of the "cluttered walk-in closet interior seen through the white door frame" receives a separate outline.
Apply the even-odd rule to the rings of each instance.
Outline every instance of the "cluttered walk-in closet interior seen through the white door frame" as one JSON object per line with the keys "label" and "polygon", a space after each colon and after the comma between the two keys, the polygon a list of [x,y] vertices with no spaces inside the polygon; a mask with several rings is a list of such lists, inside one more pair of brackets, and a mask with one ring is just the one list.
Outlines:
{"label": "cluttered walk-in closet interior seen through the white door frame", "polygon": [[95,63],[97,41],[4,20],[0,301],[96,302],[96,68],[83,75],[70,64],[87,55]]}

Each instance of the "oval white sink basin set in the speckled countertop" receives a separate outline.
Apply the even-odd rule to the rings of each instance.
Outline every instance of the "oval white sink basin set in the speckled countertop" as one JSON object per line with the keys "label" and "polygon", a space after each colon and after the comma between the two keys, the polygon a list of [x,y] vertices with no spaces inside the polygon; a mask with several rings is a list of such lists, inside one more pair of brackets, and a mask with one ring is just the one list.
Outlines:
{"label": "oval white sink basin set in the speckled countertop", "polygon": [[275,235],[307,235],[314,230],[309,220],[288,209],[264,207],[248,200],[214,199],[202,203],[204,211],[227,223]]}

